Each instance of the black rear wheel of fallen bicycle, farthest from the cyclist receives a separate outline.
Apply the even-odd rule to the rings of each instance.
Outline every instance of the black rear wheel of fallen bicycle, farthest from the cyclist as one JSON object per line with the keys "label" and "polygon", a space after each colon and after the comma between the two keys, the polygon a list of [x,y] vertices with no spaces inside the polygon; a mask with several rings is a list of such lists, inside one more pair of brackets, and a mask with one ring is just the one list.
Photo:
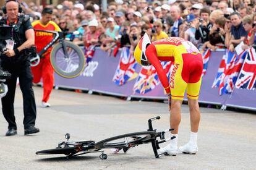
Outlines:
{"label": "black rear wheel of fallen bicycle, farthest from the cyclist", "polygon": [[66,148],[55,148],[51,150],[36,151],[36,155],[51,155],[51,154],[70,155],[72,153],[77,153],[77,152],[79,152],[79,148],[77,147],[66,147]]}

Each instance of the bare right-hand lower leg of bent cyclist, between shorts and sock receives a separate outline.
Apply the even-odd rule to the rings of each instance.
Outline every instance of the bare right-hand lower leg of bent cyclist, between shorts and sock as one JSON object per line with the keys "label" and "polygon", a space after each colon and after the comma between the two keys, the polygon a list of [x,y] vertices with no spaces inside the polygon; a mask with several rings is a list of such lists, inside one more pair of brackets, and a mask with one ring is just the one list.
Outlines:
{"label": "bare right-hand lower leg of bent cyclist, between shorts and sock", "polygon": [[190,129],[191,132],[198,132],[200,122],[200,109],[197,99],[190,99],[189,101],[189,112],[190,112]]}

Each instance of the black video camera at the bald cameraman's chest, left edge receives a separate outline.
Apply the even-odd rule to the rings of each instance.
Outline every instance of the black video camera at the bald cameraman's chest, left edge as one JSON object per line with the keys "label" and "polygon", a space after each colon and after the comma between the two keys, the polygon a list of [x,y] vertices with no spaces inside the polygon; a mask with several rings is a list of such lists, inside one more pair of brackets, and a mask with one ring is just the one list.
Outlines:
{"label": "black video camera at the bald cameraman's chest, left edge", "polygon": [[12,27],[10,26],[0,26],[0,55],[6,51],[6,40],[12,38]]}

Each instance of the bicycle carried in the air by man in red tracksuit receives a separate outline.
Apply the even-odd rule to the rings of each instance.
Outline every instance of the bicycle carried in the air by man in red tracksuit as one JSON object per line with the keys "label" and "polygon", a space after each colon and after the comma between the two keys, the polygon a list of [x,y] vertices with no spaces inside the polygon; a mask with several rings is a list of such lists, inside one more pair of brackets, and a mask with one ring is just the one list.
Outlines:
{"label": "bicycle carried in the air by man in red tracksuit", "polygon": [[[51,50],[50,59],[54,71],[64,78],[74,78],[80,75],[85,67],[85,55],[82,49],[70,41],[65,40],[65,35],[70,33],[49,31],[49,30],[35,30],[36,32],[52,33],[53,40],[43,48],[36,57],[30,59],[32,67],[40,62],[40,58],[47,49],[53,46]],[[55,43],[59,42],[55,45]]]}

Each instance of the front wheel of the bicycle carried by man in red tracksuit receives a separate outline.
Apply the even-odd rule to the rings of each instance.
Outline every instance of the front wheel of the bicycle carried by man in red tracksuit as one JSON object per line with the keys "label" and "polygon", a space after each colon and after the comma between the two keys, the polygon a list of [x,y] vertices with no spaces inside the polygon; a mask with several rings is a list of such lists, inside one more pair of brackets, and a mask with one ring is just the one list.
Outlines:
{"label": "front wheel of the bicycle carried by man in red tracksuit", "polygon": [[85,56],[79,46],[69,41],[64,41],[67,47],[67,55],[64,56],[64,51],[61,43],[55,45],[51,51],[51,65],[54,71],[64,78],[74,78],[80,75],[85,67]]}

